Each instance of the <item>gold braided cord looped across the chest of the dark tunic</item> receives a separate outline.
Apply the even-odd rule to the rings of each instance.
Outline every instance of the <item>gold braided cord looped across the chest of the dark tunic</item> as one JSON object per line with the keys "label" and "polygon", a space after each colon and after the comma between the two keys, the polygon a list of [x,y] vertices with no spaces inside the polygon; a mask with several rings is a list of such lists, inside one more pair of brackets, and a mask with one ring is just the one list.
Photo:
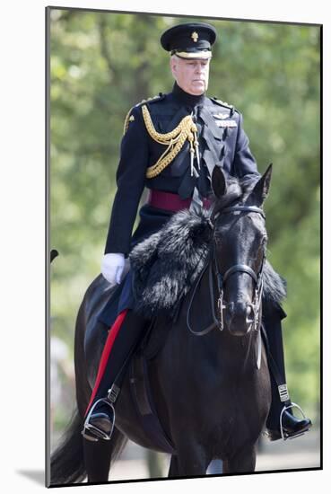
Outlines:
{"label": "gold braided cord looped across the chest of the dark tunic", "polygon": [[186,140],[190,144],[191,158],[195,153],[194,143],[197,144],[196,134],[197,128],[191,115],[187,115],[179,122],[179,125],[168,132],[167,134],[161,134],[157,132],[152,124],[150,112],[146,105],[142,106],[144,124],[149,135],[159,144],[168,146],[167,149],[161,154],[158,161],[147,168],[146,177],[152,179],[161,173],[179,154],[181,148],[184,146]]}

